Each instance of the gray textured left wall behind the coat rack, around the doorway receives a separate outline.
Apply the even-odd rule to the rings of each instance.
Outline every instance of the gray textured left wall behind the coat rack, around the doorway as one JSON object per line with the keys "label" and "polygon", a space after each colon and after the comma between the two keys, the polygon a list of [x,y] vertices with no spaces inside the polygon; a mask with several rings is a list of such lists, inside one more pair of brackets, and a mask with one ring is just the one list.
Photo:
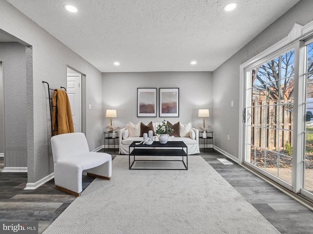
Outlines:
{"label": "gray textured left wall behind the coat rack, around the doorway", "polygon": [[[102,74],[5,0],[0,0],[0,18],[1,30],[32,46],[25,85],[28,183],[35,183],[53,172],[49,100],[42,81],[49,82],[51,88],[66,87],[67,64],[86,74],[86,103],[93,107],[86,110],[86,135],[92,150],[102,144]],[[31,54],[26,52],[26,56]]]}

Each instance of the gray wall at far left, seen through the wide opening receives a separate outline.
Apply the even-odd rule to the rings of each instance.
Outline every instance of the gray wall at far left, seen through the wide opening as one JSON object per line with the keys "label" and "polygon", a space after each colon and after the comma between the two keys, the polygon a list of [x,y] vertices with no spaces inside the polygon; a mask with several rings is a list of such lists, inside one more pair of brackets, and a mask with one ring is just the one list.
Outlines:
{"label": "gray wall at far left, seen through the wide opening", "polygon": [[27,167],[26,54],[18,42],[0,43],[3,66],[5,167]]}

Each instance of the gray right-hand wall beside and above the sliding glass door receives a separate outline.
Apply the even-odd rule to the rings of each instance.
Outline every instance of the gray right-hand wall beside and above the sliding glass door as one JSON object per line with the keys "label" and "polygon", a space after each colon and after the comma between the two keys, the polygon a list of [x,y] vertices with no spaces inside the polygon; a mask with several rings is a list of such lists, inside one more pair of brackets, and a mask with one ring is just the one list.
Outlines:
{"label": "gray right-hand wall beside and above the sliding glass door", "polygon": [[[238,158],[238,123],[242,121],[242,110],[239,110],[239,66],[287,37],[294,23],[305,25],[311,22],[312,12],[312,0],[301,0],[213,72],[214,144],[217,147]],[[234,107],[230,107],[231,100]],[[230,135],[229,141],[227,135]]]}

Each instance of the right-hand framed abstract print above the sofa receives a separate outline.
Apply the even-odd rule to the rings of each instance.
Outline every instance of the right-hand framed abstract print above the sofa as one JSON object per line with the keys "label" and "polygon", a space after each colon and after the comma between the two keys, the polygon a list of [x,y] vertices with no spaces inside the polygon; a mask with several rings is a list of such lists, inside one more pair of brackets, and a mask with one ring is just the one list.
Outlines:
{"label": "right-hand framed abstract print above the sofa", "polygon": [[179,88],[160,88],[160,117],[179,117]]}

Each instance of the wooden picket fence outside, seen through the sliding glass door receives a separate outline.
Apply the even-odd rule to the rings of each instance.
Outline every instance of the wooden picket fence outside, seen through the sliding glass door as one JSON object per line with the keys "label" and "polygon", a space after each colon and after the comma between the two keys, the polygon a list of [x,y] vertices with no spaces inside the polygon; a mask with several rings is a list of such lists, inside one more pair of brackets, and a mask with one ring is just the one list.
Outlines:
{"label": "wooden picket fence outside, seen through the sliding glass door", "polygon": [[251,143],[271,151],[292,145],[293,104],[290,100],[253,100]]}

